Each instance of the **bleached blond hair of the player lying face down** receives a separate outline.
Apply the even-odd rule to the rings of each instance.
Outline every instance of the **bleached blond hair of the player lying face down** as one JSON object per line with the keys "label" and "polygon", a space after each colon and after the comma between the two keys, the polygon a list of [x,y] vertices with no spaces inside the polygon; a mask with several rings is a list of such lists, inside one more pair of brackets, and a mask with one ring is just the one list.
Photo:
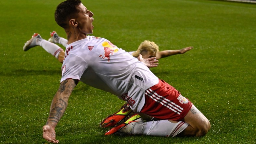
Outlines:
{"label": "bleached blond hair of the player lying face down", "polygon": [[139,54],[141,54],[141,52],[143,51],[157,54],[159,52],[159,46],[155,42],[145,40],[144,42],[140,43],[140,46],[138,47],[137,51],[133,52],[132,56],[138,57]]}

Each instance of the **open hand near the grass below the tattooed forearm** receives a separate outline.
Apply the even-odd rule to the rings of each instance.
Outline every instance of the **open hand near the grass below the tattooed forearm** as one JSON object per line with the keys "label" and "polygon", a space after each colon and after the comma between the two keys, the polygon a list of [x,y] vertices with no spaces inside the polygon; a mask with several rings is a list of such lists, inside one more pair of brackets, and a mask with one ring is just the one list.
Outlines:
{"label": "open hand near the grass below the tattooed forearm", "polygon": [[59,143],[59,141],[56,140],[55,130],[51,126],[43,126],[43,138],[48,142]]}

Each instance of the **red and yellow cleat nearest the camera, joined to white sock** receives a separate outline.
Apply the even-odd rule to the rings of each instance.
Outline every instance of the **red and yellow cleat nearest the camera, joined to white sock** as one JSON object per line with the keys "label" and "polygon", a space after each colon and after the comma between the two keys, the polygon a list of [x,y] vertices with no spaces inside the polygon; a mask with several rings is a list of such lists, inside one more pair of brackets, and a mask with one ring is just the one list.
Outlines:
{"label": "red and yellow cleat nearest the camera, joined to white sock", "polygon": [[119,134],[119,135],[132,135],[133,126],[136,123],[143,123],[143,119],[139,114],[134,114],[127,121],[119,126],[110,129],[105,135]]}

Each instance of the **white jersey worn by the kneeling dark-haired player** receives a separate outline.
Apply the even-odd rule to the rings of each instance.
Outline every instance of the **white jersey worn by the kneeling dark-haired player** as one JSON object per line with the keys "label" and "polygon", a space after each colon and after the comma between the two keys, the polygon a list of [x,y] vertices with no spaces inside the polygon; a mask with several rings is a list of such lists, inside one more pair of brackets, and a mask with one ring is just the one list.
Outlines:
{"label": "white jersey worn by the kneeling dark-haired player", "polygon": [[145,103],[145,90],[158,83],[158,78],[137,58],[94,36],[66,47],[60,82],[68,78],[110,92],[127,101],[136,112]]}

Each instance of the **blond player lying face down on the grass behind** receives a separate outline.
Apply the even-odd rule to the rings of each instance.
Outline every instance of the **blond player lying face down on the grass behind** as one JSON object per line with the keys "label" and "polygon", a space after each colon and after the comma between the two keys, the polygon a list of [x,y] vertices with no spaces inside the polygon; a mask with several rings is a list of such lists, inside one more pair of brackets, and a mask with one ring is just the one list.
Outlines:
{"label": "blond player lying face down on the grass behind", "polygon": [[[28,40],[24,46],[23,50],[27,51],[31,49],[32,47],[35,47],[37,45],[42,46],[45,51],[52,54],[54,57],[58,59],[60,63],[63,63],[63,59],[65,56],[65,52],[63,49],[61,49],[57,44],[53,43],[59,43],[66,47],[68,45],[68,40],[65,38],[62,38],[58,36],[57,32],[53,31],[51,32],[51,37],[48,41],[43,39],[40,34],[35,33],[30,40]],[[159,51],[159,46],[155,42],[150,42],[145,40],[144,42],[141,42],[138,49],[133,52],[129,52],[129,54],[132,54],[134,57],[138,57],[139,54],[142,55],[142,58],[150,58],[150,57],[156,57],[156,60],[175,55],[175,54],[184,54],[187,51],[191,50],[193,47],[189,46],[180,50],[164,50]]]}

